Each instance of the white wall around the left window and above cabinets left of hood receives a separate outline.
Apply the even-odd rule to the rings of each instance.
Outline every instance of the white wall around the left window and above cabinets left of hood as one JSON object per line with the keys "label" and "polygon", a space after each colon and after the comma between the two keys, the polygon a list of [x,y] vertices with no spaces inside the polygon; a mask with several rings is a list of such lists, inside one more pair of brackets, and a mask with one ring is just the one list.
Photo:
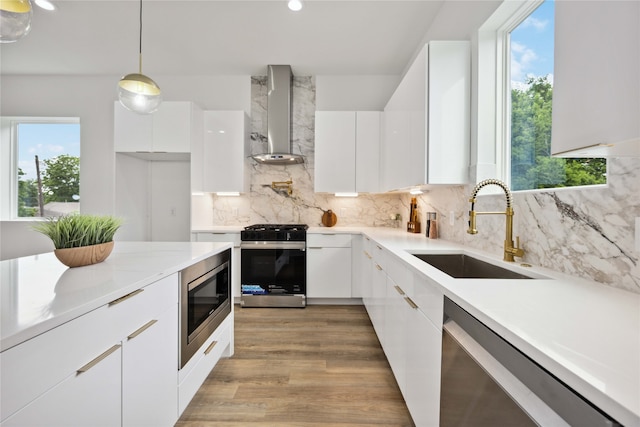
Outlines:
{"label": "white wall around the left window and above cabinets left of hood", "polygon": [[[121,76],[1,76],[0,116],[80,118],[80,209],[115,213],[113,102]],[[153,76],[167,101],[194,101],[203,109],[251,110],[249,76]],[[5,142],[3,141],[3,144]],[[2,224],[2,259],[43,252],[28,227]],[[16,245],[20,246],[19,250]]]}

